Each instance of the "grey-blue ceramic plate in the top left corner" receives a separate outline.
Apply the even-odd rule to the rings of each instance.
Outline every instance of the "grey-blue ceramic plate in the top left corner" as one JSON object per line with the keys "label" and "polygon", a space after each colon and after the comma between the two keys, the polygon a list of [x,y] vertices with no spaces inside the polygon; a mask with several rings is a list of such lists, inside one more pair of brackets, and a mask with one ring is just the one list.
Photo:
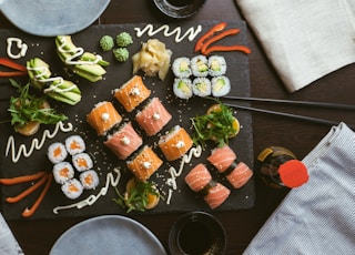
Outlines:
{"label": "grey-blue ceramic plate in the top left corner", "polygon": [[110,0],[0,0],[1,12],[24,32],[55,37],[88,28]]}

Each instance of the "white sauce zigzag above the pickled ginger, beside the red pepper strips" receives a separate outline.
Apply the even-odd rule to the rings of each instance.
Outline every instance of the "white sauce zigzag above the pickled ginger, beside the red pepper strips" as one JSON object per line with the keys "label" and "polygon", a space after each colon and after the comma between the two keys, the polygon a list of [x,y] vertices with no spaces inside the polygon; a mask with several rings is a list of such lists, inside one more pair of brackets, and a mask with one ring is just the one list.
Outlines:
{"label": "white sauce zigzag above the pickled ginger, beside the red pepper strips", "polygon": [[181,42],[184,40],[185,37],[189,38],[189,41],[192,41],[195,39],[195,37],[202,31],[202,26],[199,24],[197,28],[190,28],[186,30],[184,34],[181,35],[181,27],[178,27],[170,31],[169,24],[163,24],[160,28],[154,30],[153,24],[146,24],[143,29],[140,28],[134,28],[136,32],[136,37],[142,37],[145,32],[148,33],[149,37],[153,37],[154,34],[163,31],[164,37],[171,37],[175,34],[175,42]]}

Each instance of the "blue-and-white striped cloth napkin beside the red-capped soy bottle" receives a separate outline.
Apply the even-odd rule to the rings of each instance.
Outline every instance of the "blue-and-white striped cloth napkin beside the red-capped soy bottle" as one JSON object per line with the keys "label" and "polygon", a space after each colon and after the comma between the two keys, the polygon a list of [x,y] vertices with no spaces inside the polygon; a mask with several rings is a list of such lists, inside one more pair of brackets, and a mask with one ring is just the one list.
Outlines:
{"label": "blue-and-white striped cloth napkin beside the red-capped soy bottle", "polygon": [[333,126],[303,163],[308,182],[290,191],[244,255],[355,254],[355,133]]}

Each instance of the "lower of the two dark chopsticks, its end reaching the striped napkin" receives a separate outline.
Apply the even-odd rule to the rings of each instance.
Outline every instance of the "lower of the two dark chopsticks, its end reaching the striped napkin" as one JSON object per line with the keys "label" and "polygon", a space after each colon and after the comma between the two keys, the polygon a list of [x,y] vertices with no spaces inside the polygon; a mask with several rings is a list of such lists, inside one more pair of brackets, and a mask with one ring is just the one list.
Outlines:
{"label": "lower of the two dark chopsticks, its end reaching the striped napkin", "polygon": [[[302,120],[302,121],[308,121],[308,122],[318,123],[318,124],[325,124],[325,125],[338,125],[339,124],[339,122],[336,122],[336,121],[329,121],[329,120],[324,120],[324,119],[318,119],[318,118],[313,118],[313,116],[304,116],[304,115],[297,115],[297,114],[293,114],[293,113],[276,112],[276,111],[258,109],[258,108],[242,106],[242,105],[230,104],[230,103],[225,103],[225,102],[223,102],[223,104],[231,106],[231,108],[241,109],[241,110],[274,114],[274,115],[280,115],[280,116],[287,116],[287,118]],[[348,125],[348,126],[352,130],[355,130],[355,125]]]}

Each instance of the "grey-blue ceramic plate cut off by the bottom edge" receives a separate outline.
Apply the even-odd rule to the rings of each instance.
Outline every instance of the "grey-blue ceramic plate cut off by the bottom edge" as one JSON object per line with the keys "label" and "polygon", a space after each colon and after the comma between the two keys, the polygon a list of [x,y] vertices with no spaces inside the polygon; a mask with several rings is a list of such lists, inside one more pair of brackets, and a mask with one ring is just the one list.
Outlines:
{"label": "grey-blue ceramic plate cut off by the bottom edge", "polygon": [[68,230],[50,255],[166,255],[163,245],[145,226],[129,217],[105,215],[81,222]]}

